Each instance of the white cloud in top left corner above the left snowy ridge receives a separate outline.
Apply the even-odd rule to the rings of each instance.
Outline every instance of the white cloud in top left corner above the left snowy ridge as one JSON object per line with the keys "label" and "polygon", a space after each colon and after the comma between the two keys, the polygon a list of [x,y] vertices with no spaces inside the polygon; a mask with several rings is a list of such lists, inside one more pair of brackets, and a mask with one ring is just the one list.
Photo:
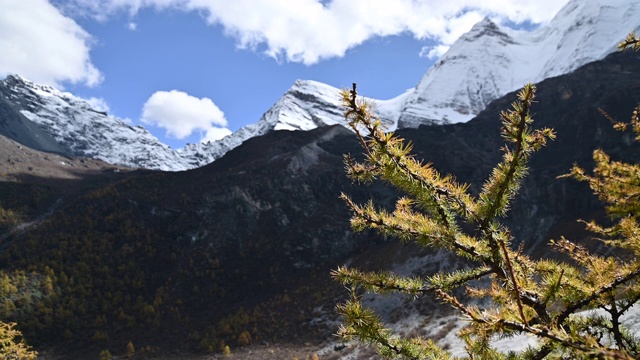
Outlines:
{"label": "white cloud in top left corner above the left snowy ridge", "polygon": [[47,0],[0,0],[0,9],[0,75],[56,87],[102,81],[89,56],[91,36]]}

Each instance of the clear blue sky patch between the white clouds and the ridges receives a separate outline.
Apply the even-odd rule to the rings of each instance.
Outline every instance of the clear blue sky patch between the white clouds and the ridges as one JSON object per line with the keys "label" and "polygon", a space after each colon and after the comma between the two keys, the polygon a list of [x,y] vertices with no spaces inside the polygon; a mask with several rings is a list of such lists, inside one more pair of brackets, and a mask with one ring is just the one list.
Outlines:
{"label": "clear blue sky patch between the white clouds and the ridges", "polygon": [[[335,87],[356,81],[368,96],[387,99],[416,85],[434,61],[418,56],[433,41],[410,34],[373,38],[344,57],[305,65],[238,49],[220,26],[208,26],[197,13],[146,9],[135,20],[132,31],[127,16],[104,23],[81,19],[79,24],[98,39],[93,63],[105,78],[94,88],[67,86],[85,98],[104,97],[110,112],[135,120],[155,91],[179,90],[211,99],[236,131],[258,121],[296,79]],[[201,137],[196,132],[177,140],[165,137],[162,128],[147,128],[174,147]]]}

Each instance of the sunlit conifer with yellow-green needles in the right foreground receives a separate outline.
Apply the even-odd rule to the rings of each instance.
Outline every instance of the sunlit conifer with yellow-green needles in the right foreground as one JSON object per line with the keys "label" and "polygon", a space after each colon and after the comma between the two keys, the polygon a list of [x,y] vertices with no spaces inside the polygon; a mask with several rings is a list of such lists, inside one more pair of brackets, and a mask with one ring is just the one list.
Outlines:
{"label": "sunlit conifer with yellow-green needles in the right foreground", "polygon": [[[638,49],[638,44],[638,38],[631,34],[620,47]],[[614,224],[590,222],[587,227],[604,245],[632,254],[625,259],[592,253],[565,238],[552,240],[550,246],[570,262],[532,259],[515,248],[513,236],[501,222],[527,174],[529,159],[555,137],[551,129],[532,128],[530,107],[535,90],[535,86],[525,85],[513,108],[501,114],[506,142],[503,158],[477,196],[453,176],[443,176],[430,164],[416,160],[410,143],[384,133],[373,115],[373,104],[357,97],[355,84],[352,90],[342,92],[348,108],[345,117],[365,150],[363,162],[345,156],[348,175],[361,183],[381,179],[404,193],[393,211],[377,208],[373,202],[356,204],[342,194],[352,212],[353,229],[373,229],[384,236],[444,249],[470,264],[465,269],[424,277],[338,268],[333,276],[351,289],[350,299],[338,305],[344,316],[338,331],[342,339],[375,346],[388,358],[453,358],[432,340],[394,334],[358,295],[361,289],[411,296],[433,293],[468,319],[459,336],[469,359],[640,357],[639,339],[620,322],[640,299],[639,165],[611,161],[598,150],[594,152],[593,174],[575,166],[568,175],[589,182],[607,204]],[[616,128],[631,127],[640,139],[639,113],[640,106],[630,123],[617,123]],[[457,289],[489,300],[480,303],[490,305],[465,303],[456,296]],[[591,309],[601,311],[587,311]],[[492,339],[517,334],[533,335],[537,344],[521,352],[492,347]]]}

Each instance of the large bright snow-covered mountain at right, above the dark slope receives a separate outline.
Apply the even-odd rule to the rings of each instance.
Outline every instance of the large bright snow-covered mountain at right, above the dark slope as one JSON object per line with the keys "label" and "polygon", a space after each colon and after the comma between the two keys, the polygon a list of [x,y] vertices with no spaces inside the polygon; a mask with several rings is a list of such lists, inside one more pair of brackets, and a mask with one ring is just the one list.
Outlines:
{"label": "large bright snow-covered mountain at right, above the dark slope", "polygon": [[638,0],[574,0],[531,31],[486,18],[461,36],[402,104],[398,127],[465,122],[527,82],[566,74],[616,51],[640,25]]}

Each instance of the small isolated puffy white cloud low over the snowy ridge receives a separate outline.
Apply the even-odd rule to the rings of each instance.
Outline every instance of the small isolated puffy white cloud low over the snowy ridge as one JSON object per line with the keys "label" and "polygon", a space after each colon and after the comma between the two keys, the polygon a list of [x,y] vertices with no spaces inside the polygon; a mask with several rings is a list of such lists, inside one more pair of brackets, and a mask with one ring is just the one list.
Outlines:
{"label": "small isolated puffy white cloud low over the snowy ridge", "polygon": [[167,130],[167,136],[184,139],[194,132],[201,141],[214,141],[231,134],[227,119],[208,98],[197,98],[185,92],[157,91],[142,108],[142,122]]}

